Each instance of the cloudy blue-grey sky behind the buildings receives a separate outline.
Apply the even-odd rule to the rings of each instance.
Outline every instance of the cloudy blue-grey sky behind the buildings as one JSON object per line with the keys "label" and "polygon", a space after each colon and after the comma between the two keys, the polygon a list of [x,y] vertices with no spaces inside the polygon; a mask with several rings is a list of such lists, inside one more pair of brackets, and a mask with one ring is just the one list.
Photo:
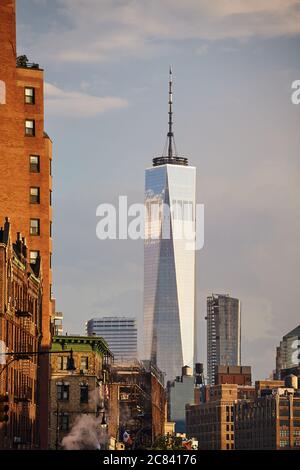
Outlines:
{"label": "cloudy blue-grey sky behind the buildings", "polygon": [[300,323],[299,0],[18,0],[18,53],[45,69],[54,141],[54,295],[65,331],[142,318],[143,244],[96,238],[96,208],[143,201],[162,153],[168,65],[175,139],[197,166],[198,359],[206,296],[242,301],[243,364],[274,368]]}

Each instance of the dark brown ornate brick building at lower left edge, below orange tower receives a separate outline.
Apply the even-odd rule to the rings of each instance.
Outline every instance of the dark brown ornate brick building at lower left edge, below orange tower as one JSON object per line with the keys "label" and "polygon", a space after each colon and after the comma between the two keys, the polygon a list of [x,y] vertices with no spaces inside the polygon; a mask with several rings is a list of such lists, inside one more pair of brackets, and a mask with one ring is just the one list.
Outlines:
{"label": "dark brown ornate brick building at lower left edge, below orange tower", "polygon": [[[40,258],[30,265],[26,240],[12,243],[6,219],[0,229],[0,341],[6,351],[37,351],[41,335],[42,274]],[[8,395],[9,421],[0,424],[1,449],[35,449],[40,439],[37,356],[13,360],[0,368],[0,395]]]}

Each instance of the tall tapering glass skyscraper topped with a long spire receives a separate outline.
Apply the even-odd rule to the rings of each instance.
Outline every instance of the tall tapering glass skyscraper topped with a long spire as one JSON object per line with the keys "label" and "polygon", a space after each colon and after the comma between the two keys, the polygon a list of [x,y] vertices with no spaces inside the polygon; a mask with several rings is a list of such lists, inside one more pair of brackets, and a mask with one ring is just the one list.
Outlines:
{"label": "tall tapering glass skyscraper topped with a long spire", "polygon": [[[167,156],[146,170],[144,355],[167,380],[194,363],[196,168],[177,156],[169,81]],[[193,233],[189,246],[185,234]],[[184,236],[183,236],[184,234]]]}

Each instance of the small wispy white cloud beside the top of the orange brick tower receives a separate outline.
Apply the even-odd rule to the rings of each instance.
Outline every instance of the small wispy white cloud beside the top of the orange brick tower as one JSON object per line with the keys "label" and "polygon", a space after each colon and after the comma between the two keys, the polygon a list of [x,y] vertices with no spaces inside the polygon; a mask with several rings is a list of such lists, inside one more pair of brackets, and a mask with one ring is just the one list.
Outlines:
{"label": "small wispy white cloud beside the top of the orange brick tower", "polygon": [[45,98],[47,114],[60,117],[93,117],[111,109],[128,106],[128,101],[123,98],[65,91],[50,83],[45,83]]}

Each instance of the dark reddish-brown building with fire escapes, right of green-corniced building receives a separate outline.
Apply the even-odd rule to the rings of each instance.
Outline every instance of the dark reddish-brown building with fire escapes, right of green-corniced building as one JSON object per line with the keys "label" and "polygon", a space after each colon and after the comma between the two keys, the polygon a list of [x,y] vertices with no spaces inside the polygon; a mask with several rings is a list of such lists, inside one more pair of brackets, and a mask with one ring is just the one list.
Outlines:
{"label": "dark reddish-brown building with fire escapes, right of green-corniced building", "polygon": [[162,373],[150,361],[136,361],[112,366],[110,381],[110,434],[122,441],[127,431],[136,448],[151,446],[167,422]]}

